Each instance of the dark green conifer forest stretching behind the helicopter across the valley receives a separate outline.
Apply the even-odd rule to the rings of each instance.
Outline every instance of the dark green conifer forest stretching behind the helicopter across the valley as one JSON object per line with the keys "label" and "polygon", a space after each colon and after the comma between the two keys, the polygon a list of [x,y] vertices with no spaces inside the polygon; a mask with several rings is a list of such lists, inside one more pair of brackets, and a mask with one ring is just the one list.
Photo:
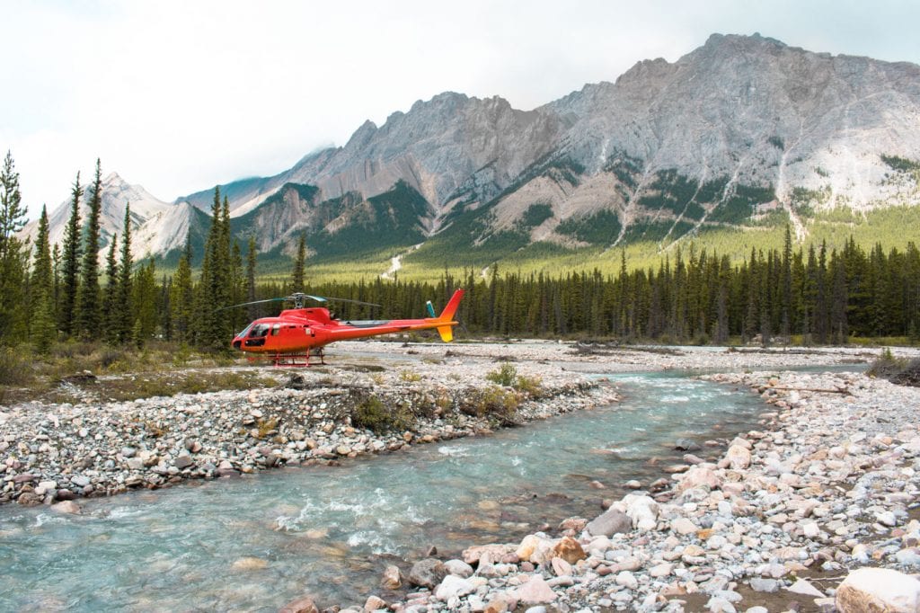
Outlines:
{"label": "dark green conifer forest stretching behind the helicopter across the valley", "polygon": [[[914,242],[884,251],[854,239],[842,249],[753,249],[740,263],[691,243],[656,268],[630,270],[625,253],[616,274],[522,274],[493,265],[436,282],[383,281],[306,286],[305,237],[298,239],[290,277],[259,282],[257,248],[233,240],[229,205],[219,188],[201,268],[193,271],[187,240],[178,268],[157,279],[155,260],[132,258],[130,203],[121,235],[109,239],[105,270],[98,252],[101,169],[89,186],[77,173],[60,248],[50,244],[42,209],[33,245],[25,226],[18,174],[9,153],[0,168],[0,344],[29,342],[47,353],[55,341],[99,340],[142,346],[154,338],[201,349],[228,347],[236,330],[277,313],[280,303],[248,304],[294,291],[379,304],[379,310],[332,303],[340,318],[424,317],[425,301],[443,303],[466,288],[458,317],[480,335],[627,341],[844,343],[851,336],[907,337],[920,323],[920,251]],[[86,192],[88,214],[79,203]],[[245,253],[245,257],[244,257]]]}

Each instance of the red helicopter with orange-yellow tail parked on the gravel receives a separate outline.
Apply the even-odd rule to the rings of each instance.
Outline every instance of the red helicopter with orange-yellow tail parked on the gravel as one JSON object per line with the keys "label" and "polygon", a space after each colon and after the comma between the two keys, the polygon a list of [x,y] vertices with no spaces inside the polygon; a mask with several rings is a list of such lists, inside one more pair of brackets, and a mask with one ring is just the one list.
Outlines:
{"label": "red helicopter with orange-yellow tail parked on the gravel", "polygon": [[235,349],[268,357],[276,366],[309,366],[311,354],[323,361],[323,348],[330,342],[362,339],[380,334],[393,334],[408,330],[438,330],[444,342],[454,340],[454,314],[464,291],[458,289],[441,315],[435,317],[434,307],[428,302],[431,317],[421,319],[334,319],[328,308],[304,307],[306,300],[316,302],[352,302],[379,307],[359,300],[327,298],[318,295],[293,294],[283,298],[256,300],[235,307],[245,307],[264,302],[290,301],[294,307],[282,310],[276,318],[259,318],[239,332],[231,343]]}

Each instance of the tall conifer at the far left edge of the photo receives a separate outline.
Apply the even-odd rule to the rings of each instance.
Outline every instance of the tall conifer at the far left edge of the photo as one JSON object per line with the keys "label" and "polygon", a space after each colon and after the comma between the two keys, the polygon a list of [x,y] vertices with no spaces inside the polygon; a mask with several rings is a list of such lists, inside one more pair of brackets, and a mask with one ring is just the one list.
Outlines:
{"label": "tall conifer at the far left edge of the photo", "polygon": [[26,209],[19,192],[19,173],[6,152],[0,168],[0,344],[25,338],[24,286],[29,269],[28,245],[17,237],[26,225]]}

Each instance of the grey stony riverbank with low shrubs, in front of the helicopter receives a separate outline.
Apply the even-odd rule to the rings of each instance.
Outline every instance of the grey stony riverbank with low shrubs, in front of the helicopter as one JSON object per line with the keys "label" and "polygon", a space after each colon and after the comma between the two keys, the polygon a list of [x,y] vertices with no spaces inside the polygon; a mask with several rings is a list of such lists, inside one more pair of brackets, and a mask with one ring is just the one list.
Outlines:
{"label": "grey stony riverbank with low shrubs, in front of the helicopter", "polygon": [[76,404],[0,407],[0,503],[53,504],[336,462],[614,399],[558,367],[515,366],[507,386],[486,378],[496,369],[458,359],[390,369],[350,363],[284,375],[270,389],[131,402],[102,402],[89,389]]}

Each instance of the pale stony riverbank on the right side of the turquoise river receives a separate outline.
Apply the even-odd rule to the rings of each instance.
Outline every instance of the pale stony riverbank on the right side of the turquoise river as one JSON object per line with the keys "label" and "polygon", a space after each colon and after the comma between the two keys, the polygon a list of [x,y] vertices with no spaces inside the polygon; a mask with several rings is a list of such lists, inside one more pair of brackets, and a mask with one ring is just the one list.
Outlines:
{"label": "pale stony riverbank on the right side of the turquoise river", "polygon": [[[917,610],[920,389],[853,373],[708,378],[760,394],[763,428],[716,461],[687,454],[667,486],[634,483],[598,517],[420,561],[408,577],[389,569],[391,586],[416,589],[389,607]],[[851,573],[868,566],[886,570]],[[872,598],[890,608],[868,608]],[[372,596],[365,609],[384,606]]]}

